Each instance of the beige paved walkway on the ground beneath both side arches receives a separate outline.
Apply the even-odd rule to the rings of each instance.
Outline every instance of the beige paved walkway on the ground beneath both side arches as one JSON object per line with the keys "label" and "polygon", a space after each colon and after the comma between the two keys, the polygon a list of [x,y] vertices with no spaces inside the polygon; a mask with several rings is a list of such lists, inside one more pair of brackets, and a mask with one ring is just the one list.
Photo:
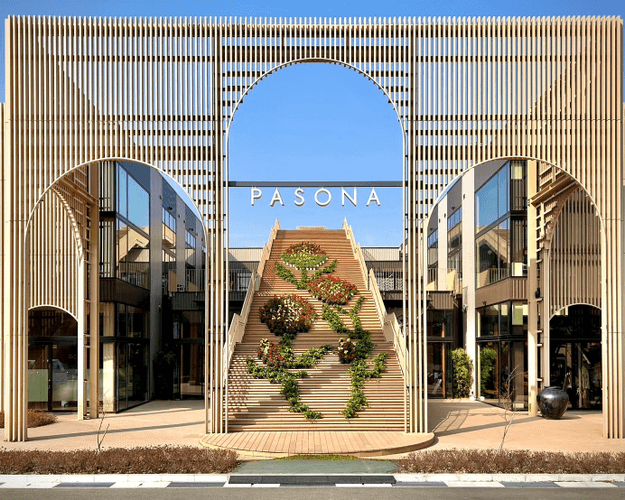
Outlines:
{"label": "beige paved walkway on the ground beneath both side arches", "polygon": [[[505,427],[503,411],[479,402],[434,400],[429,402],[430,425],[435,444],[427,450],[448,448],[494,449]],[[515,416],[504,449],[535,451],[623,451],[625,440],[601,436],[600,412],[567,412],[561,420]],[[29,441],[3,442],[5,449],[75,450],[95,449],[99,420],[79,422],[75,414],[60,414],[59,421],[29,429]],[[154,401],[110,414],[103,428],[109,431],[104,448],[136,446],[200,446],[204,434],[202,401]],[[393,456],[395,457],[395,456]],[[391,457],[385,457],[391,458]]]}

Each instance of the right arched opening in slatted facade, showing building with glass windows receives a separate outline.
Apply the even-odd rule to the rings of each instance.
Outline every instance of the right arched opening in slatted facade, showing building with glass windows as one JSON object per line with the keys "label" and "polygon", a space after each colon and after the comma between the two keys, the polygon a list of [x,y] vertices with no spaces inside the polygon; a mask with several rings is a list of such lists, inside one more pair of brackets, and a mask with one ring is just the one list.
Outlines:
{"label": "right arched opening in slatted facade, showing building with glass windows", "polygon": [[[474,363],[473,397],[496,405],[510,399],[535,413],[537,391],[563,383],[554,380],[562,375],[563,352],[601,352],[604,240],[587,191],[548,162],[495,159],[455,179],[433,206],[423,236],[429,396],[453,392],[449,352],[464,347]],[[579,302],[597,313],[595,328],[591,338],[563,347],[554,326]],[[582,365],[575,367],[583,371]],[[600,361],[590,365],[601,370]],[[576,380],[592,392],[588,377]]]}

